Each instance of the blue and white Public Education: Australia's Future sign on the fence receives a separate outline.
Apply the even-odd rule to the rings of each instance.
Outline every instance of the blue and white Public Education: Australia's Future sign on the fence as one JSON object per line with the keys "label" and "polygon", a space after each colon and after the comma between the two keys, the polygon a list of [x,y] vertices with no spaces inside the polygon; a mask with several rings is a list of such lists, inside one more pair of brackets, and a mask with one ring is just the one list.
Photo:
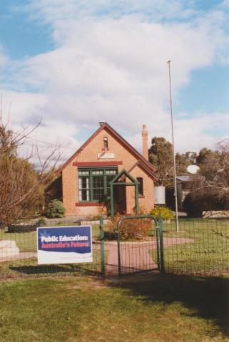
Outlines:
{"label": "blue and white Public Education: Australia's Future sign on the fence", "polygon": [[91,226],[37,228],[38,264],[92,262]]}

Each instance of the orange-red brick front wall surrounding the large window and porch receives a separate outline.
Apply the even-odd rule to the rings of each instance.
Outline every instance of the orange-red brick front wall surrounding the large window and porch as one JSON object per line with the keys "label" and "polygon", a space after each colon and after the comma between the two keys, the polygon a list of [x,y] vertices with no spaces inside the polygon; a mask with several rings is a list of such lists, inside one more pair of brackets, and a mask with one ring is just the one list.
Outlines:
{"label": "orange-red brick front wall surrounding the large window and porch", "polygon": [[[114,159],[98,160],[98,153],[103,151],[103,137],[108,137],[107,153],[114,153]],[[62,171],[63,180],[63,205],[66,207],[67,215],[96,214],[101,207],[78,207],[78,169],[73,166],[73,162],[114,162],[122,161],[123,165],[118,165],[118,172],[123,169],[130,170],[138,161],[126,146],[121,145],[116,138],[107,130],[102,130],[96,137],[72,160]],[[139,204],[146,210],[153,208],[153,180],[140,167],[135,167],[131,171],[133,177],[143,177],[144,198],[139,199]],[[133,213],[135,207],[134,187],[126,187],[127,212]]]}

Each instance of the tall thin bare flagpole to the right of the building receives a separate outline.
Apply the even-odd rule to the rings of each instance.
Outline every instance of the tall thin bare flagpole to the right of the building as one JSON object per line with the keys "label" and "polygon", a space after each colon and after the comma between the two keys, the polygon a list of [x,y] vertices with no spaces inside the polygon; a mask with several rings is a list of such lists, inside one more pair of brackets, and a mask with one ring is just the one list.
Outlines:
{"label": "tall thin bare flagpole to the right of the building", "polygon": [[171,102],[171,126],[172,126],[172,150],[173,150],[173,185],[174,185],[174,197],[175,197],[175,225],[176,232],[179,232],[178,224],[178,192],[176,187],[176,172],[175,172],[175,147],[174,147],[174,133],[173,133],[173,103],[172,103],[172,87],[171,87],[171,61],[168,61],[168,76],[169,76],[169,90],[170,90],[170,102]]}

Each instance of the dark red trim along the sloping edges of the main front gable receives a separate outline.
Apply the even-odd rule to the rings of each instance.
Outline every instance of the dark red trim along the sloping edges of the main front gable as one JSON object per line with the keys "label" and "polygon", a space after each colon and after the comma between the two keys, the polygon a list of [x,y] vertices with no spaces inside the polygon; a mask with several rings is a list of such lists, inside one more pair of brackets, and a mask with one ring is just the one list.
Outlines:
{"label": "dark red trim along the sloping edges of the main front gable", "polygon": [[[81,145],[81,147],[60,167],[60,169],[58,170],[58,172],[62,172],[63,169],[70,163],[72,162],[72,160],[80,153],[82,152],[82,150],[93,140],[93,138],[96,138],[96,136],[101,133],[102,130],[106,130],[108,131],[108,133],[110,133],[111,135],[113,135],[113,137],[116,138],[116,140],[118,140],[118,142],[120,142],[125,148],[126,150],[129,150],[129,152],[132,153],[132,155],[134,155],[136,157],[136,159],[140,160],[142,162],[142,164],[148,169],[151,170],[151,172],[156,172],[156,167],[153,166],[151,164],[151,162],[148,162],[148,160],[146,160],[145,157],[143,157],[143,155],[141,155],[141,153],[139,153],[133,146],[131,146],[131,144],[129,144],[123,137],[121,137],[121,135],[119,135],[116,130],[114,130],[110,125],[108,125],[108,123],[103,123],[103,125],[101,125],[101,127],[98,128],[98,130],[96,130],[95,133],[93,133],[93,135],[91,135],[90,138],[88,138],[88,140],[86,140],[86,142],[83,143],[83,145]],[[156,176],[155,176],[156,177]],[[157,177],[156,177],[157,178]]]}

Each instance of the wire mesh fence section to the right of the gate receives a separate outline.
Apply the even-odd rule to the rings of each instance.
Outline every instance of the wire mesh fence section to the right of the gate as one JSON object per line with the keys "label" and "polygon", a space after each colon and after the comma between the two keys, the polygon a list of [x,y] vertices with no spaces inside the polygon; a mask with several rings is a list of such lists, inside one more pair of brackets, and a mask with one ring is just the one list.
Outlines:
{"label": "wire mesh fence section to the right of the gate", "polygon": [[166,272],[220,274],[229,272],[229,219],[180,219],[163,222]]}

